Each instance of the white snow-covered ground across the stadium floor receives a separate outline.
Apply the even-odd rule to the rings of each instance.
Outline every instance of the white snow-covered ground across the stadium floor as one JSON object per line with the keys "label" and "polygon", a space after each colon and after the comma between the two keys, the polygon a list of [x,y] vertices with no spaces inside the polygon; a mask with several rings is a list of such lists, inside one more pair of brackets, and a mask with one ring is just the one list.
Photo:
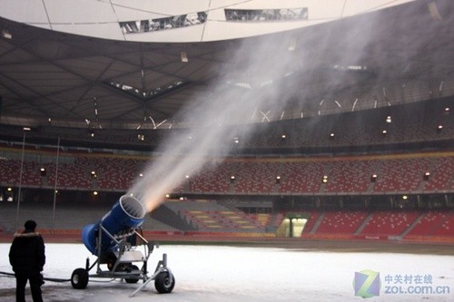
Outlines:
{"label": "white snow-covered ground across the stadium floor", "polygon": [[[0,244],[3,272],[11,272],[9,247]],[[360,276],[368,269],[380,273],[380,296],[368,301],[454,301],[454,256],[163,245],[154,250],[149,270],[163,253],[176,279],[171,294],[158,294],[152,282],[129,297],[141,282],[91,278],[83,290],[47,281],[44,301],[362,301],[355,297],[355,272],[363,295]],[[44,278],[69,279],[89,256],[82,244],[46,244]],[[15,279],[0,275],[0,301],[14,299]]]}

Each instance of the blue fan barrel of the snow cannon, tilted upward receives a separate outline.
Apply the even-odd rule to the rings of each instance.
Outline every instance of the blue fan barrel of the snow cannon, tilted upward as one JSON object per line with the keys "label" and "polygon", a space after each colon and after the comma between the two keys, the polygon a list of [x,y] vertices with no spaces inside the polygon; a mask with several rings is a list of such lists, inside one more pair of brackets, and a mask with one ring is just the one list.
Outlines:
{"label": "blue fan barrel of the snow cannon, tilted upward", "polygon": [[143,224],[145,213],[142,202],[133,196],[123,195],[101,221],[84,227],[82,241],[85,247],[94,255],[99,252],[98,247],[101,249],[100,252],[113,250],[116,243],[105,231],[101,232],[101,240],[97,243],[100,226],[114,236],[123,230],[140,227]]}

